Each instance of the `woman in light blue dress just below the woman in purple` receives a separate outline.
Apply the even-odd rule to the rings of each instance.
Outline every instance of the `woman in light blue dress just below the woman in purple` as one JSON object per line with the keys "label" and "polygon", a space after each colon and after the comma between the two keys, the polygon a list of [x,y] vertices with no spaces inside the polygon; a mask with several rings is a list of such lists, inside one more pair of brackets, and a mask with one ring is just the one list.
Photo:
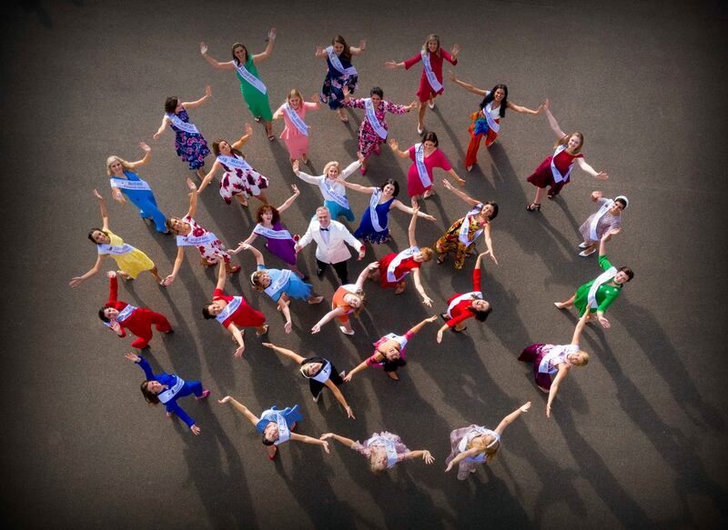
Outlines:
{"label": "woman in light blue dress just below the woman in purple", "polygon": [[235,249],[235,252],[238,253],[241,250],[249,250],[256,256],[258,268],[256,272],[250,275],[250,284],[256,288],[256,291],[264,292],[278,304],[278,311],[286,319],[284,329],[286,333],[290,333],[293,329],[290,308],[288,307],[290,299],[298,298],[299,300],[306,300],[308,304],[320,304],[324,297],[314,293],[311,290],[311,285],[305,284],[292,271],[288,269],[269,269],[266,266],[263,255],[260,254],[260,251],[255,246],[240,243],[238,248]]}

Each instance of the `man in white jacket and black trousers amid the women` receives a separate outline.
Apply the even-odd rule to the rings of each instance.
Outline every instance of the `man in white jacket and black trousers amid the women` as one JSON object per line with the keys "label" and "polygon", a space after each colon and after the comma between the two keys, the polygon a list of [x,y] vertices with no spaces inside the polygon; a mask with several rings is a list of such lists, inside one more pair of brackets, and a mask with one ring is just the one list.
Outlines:
{"label": "man in white jacket and black trousers amid the women", "polygon": [[351,253],[346,243],[359,251],[359,258],[364,257],[365,249],[361,242],[351,235],[346,226],[339,221],[332,221],[329,208],[321,206],[316,209],[316,218],[308,225],[308,230],[296,244],[296,252],[299,252],[311,240],[316,241],[316,275],[322,277],[329,265],[333,265],[336,274],[339,275],[341,284],[349,283],[349,271],[347,260]]}

